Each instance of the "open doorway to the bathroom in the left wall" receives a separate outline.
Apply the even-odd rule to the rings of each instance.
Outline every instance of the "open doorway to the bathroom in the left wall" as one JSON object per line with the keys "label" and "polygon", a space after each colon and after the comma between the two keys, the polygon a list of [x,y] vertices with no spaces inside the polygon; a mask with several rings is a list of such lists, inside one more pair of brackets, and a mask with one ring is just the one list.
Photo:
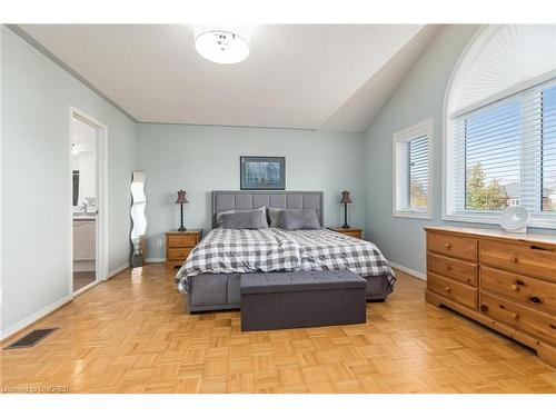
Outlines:
{"label": "open doorway to the bathroom in the left wall", "polygon": [[106,279],[105,146],[107,128],[78,109],[70,112],[71,292]]}

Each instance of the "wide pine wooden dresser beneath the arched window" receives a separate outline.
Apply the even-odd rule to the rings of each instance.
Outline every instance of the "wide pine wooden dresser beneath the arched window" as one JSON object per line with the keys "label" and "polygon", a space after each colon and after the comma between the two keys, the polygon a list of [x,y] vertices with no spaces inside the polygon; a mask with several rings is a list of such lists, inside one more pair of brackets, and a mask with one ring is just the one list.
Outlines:
{"label": "wide pine wooden dresser beneath the arched window", "polygon": [[556,366],[556,236],[430,227],[425,298]]}

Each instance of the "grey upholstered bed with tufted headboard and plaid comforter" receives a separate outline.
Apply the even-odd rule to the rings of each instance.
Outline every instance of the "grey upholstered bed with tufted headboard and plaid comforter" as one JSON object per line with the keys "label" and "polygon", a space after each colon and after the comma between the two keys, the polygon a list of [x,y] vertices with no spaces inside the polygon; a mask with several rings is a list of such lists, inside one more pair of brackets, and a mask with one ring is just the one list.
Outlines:
{"label": "grey upholstered bed with tufted headboard and plaid comforter", "polygon": [[212,230],[191,251],[176,276],[186,309],[210,311],[240,307],[242,274],[350,269],[367,280],[367,300],[385,300],[396,277],[378,248],[368,241],[318,230],[237,230],[216,228],[226,210],[261,206],[315,209],[322,221],[321,191],[212,191]]}

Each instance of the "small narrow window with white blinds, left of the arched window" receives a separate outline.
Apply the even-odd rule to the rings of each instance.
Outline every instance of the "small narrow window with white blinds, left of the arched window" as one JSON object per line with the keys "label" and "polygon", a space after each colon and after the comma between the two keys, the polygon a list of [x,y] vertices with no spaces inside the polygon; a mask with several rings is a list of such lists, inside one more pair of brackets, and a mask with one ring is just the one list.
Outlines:
{"label": "small narrow window with white blinds, left of the arched window", "polygon": [[433,121],[394,135],[394,202],[396,217],[431,217],[430,158]]}

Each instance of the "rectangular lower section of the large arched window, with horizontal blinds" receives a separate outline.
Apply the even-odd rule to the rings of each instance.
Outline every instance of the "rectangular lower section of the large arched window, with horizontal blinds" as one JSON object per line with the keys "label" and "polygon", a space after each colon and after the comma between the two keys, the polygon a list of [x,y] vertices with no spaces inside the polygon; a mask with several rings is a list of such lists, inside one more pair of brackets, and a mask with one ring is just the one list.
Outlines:
{"label": "rectangular lower section of the large arched window, with horizontal blinds", "polygon": [[524,206],[556,226],[556,79],[453,118],[450,215],[496,219]]}

